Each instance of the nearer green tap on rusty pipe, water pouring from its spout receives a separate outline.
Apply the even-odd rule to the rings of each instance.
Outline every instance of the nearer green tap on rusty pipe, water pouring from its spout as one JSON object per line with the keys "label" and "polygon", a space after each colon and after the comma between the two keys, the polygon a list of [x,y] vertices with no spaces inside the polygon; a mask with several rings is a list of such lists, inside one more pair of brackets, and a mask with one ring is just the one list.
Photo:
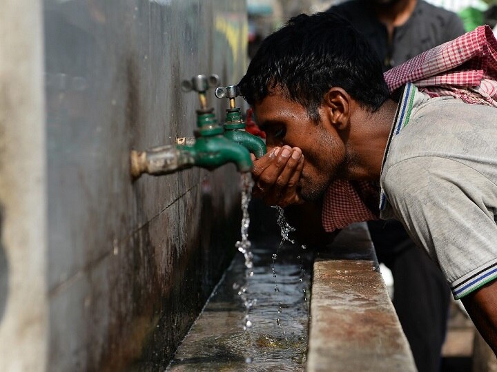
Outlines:
{"label": "nearer green tap on rusty pipe, water pouring from its spout", "polygon": [[200,108],[197,110],[197,130],[195,143],[166,145],[149,149],[146,152],[131,152],[131,175],[142,173],[159,176],[177,172],[189,167],[215,169],[226,163],[235,163],[238,172],[250,172],[252,160],[249,151],[237,143],[224,138],[223,129],[217,123],[213,108],[207,108],[206,91],[217,85],[217,76],[193,76],[191,81],[182,82],[182,90],[194,90],[199,95]]}

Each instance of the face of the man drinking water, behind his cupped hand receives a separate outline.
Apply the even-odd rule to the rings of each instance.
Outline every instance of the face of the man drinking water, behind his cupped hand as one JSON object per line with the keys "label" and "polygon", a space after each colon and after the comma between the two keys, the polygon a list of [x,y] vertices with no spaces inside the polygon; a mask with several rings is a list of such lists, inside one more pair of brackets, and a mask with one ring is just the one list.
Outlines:
{"label": "face of the man drinking water, behind his cupped hand", "polygon": [[327,116],[320,109],[315,123],[302,105],[286,99],[280,92],[266,96],[254,107],[257,125],[266,132],[268,152],[273,147],[300,147],[304,169],[298,193],[304,200],[318,200],[344,169],[345,146]]}

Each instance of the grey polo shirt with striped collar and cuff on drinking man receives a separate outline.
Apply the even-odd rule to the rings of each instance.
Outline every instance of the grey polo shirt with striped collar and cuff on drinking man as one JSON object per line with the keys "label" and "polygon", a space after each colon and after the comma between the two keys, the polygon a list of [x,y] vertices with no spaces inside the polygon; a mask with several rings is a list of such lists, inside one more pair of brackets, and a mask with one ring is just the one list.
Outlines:
{"label": "grey polo shirt with striped collar and cuff on drinking man", "polygon": [[381,218],[396,218],[455,298],[497,278],[497,108],[408,84],[385,151]]}

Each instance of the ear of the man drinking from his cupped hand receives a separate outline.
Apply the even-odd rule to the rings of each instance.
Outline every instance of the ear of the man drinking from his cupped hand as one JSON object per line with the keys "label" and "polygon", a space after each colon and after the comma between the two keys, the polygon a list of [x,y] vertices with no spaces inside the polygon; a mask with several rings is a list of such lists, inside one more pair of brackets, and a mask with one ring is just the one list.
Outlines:
{"label": "ear of the man drinking from his cupped hand", "polygon": [[341,87],[331,87],[327,94],[324,94],[322,107],[337,130],[344,130],[349,126],[351,99]]}

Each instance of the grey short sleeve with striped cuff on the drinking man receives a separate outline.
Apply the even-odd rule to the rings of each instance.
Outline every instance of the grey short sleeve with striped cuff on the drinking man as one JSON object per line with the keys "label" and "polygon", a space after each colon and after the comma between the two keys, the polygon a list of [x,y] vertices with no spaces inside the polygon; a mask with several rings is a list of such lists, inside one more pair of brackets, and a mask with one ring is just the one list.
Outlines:
{"label": "grey short sleeve with striped cuff on the drinking man", "polygon": [[440,266],[455,298],[497,277],[494,183],[457,161],[420,156],[387,169],[383,187],[396,218]]}

